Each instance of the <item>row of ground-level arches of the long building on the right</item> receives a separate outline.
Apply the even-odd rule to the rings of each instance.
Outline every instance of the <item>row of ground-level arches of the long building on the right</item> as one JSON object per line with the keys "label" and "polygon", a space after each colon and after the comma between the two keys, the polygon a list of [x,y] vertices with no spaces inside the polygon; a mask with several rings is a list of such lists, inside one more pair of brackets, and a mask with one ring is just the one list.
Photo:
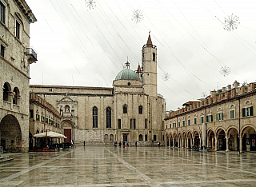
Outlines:
{"label": "row of ground-level arches of the long building on the right", "polygon": [[202,142],[202,132],[199,130],[178,133],[179,136],[177,136],[176,132],[166,133],[166,146],[168,143],[169,147],[190,149],[193,146],[197,146],[201,149],[205,146],[214,151],[224,150],[242,152],[254,150],[250,144],[255,143],[254,137],[256,137],[256,130],[251,125],[245,126],[241,130],[240,135],[238,129],[235,127],[230,127],[229,129],[218,128],[216,130],[207,129],[205,143]]}

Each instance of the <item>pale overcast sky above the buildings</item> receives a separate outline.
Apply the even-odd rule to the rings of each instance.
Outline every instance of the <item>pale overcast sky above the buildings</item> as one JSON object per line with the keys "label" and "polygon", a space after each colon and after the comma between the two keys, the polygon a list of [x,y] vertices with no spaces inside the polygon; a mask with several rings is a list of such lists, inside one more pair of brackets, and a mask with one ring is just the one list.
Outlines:
{"label": "pale overcast sky above the buildings", "polygon": [[[255,0],[94,0],[91,9],[88,0],[26,2],[38,19],[30,24],[38,53],[30,84],[111,87],[127,57],[131,70],[142,63],[149,30],[168,110],[234,80],[256,82]],[[140,22],[132,20],[135,10]],[[240,24],[224,30],[231,14]]]}

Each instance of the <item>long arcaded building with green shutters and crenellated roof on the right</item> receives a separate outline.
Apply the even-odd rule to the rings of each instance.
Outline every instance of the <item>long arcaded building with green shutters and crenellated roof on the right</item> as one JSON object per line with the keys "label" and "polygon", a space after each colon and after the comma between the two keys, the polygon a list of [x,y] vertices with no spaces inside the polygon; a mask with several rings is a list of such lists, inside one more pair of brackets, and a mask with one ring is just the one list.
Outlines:
{"label": "long arcaded building with green shutters and crenellated roof on the right", "polygon": [[[166,115],[166,146],[256,151],[256,83],[238,82]],[[177,122],[178,121],[178,122]]]}

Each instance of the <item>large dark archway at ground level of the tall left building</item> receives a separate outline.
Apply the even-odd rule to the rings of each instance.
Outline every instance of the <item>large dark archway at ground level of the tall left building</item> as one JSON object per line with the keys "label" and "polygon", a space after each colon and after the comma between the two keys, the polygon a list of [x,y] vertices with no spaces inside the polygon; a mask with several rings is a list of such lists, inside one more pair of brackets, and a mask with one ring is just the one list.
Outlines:
{"label": "large dark archway at ground level of the tall left building", "polygon": [[6,152],[22,151],[22,130],[13,115],[6,115],[0,122],[1,146]]}

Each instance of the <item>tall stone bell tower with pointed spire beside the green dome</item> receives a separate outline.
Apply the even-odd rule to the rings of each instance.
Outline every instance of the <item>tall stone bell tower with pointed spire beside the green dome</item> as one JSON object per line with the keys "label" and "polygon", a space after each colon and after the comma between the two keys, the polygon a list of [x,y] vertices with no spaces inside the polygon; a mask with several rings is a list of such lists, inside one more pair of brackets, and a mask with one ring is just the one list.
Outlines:
{"label": "tall stone bell tower with pointed spire beside the green dome", "polygon": [[142,47],[142,82],[145,94],[157,97],[157,46],[152,44],[150,34],[146,44]]}

